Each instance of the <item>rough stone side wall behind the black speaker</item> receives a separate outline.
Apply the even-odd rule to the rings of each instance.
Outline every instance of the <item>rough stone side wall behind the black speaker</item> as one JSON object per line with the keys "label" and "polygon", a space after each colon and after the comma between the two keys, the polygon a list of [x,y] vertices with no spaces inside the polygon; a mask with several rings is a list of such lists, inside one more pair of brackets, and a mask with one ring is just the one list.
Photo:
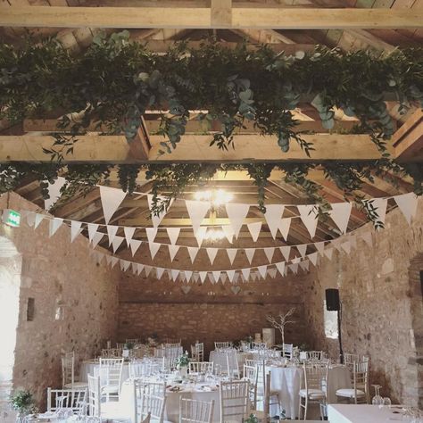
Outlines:
{"label": "rough stone side wall behind the black speaker", "polygon": [[323,259],[308,291],[305,310],[312,346],[336,357],[337,341],[324,334],[323,300],[326,288],[339,288],[344,352],[369,355],[371,381],[383,386],[382,393],[390,394],[394,402],[415,405],[421,380],[415,365],[412,295],[418,295],[414,301],[420,307],[422,301],[418,278],[410,279],[409,268],[412,259],[423,252],[422,209],[420,199],[418,216],[411,226],[401,211],[395,210],[387,214],[385,229],[375,232],[371,224],[358,229],[357,235],[372,232],[373,247],[359,239],[349,255],[334,252],[331,261]]}

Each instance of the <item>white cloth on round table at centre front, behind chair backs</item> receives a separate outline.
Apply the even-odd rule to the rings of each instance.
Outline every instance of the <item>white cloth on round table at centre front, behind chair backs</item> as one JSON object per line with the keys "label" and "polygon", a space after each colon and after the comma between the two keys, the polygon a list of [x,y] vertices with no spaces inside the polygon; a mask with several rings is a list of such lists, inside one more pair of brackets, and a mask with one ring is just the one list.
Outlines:
{"label": "white cloth on round table at centre front, behind chair backs", "polygon": [[[134,410],[134,397],[133,388],[129,381],[122,385],[120,391],[120,405],[123,410]],[[166,408],[164,412],[164,419],[172,423],[178,423],[179,421],[179,397],[191,398],[199,401],[211,402],[214,400],[214,412],[213,421],[220,421],[220,397],[219,387],[215,384],[211,385],[212,391],[202,391],[202,386],[209,386],[208,383],[199,383],[193,386],[181,385],[182,390],[178,392],[172,392],[169,389],[166,390]],[[134,423],[134,422],[132,422]]]}

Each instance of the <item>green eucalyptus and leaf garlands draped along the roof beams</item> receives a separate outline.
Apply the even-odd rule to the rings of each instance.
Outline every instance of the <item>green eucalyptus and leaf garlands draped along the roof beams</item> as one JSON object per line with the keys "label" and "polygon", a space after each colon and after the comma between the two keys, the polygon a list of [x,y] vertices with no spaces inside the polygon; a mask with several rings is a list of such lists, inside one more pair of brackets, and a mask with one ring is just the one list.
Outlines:
{"label": "green eucalyptus and leaf garlands draped along the roof beams", "polygon": [[[369,203],[356,193],[365,181],[372,181],[374,174],[383,178],[390,178],[386,175],[392,173],[409,175],[415,182],[415,192],[422,193],[421,167],[400,166],[386,153],[385,143],[394,132],[394,122],[386,110],[387,97],[396,99],[402,112],[411,104],[422,105],[423,48],[398,49],[375,57],[362,51],[344,53],[317,46],[311,53],[289,55],[275,54],[267,46],[251,51],[245,44],[229,49],[209,42],[199,49],[181,43],[158,55],[130,42],[128,31],[95,37],[87,51],[78,56],[72,56],[55,40],[29,40],[21,50],[3,44],[0,119],[14,123],[60,110],[58,129],[62,134],[55,134],[54,147],[45,150],[51,163],[1,165],[0,191],[13,189],[29,172],[42,182],[43,195],[47,195],[47,181],[53,182],[59,173],[68,181],[62,189],[64,195],[104,183],[112,164],[64,166],[63,158],[73,152],[78,136],[93,124],[104,134],[124,133],[131,142],[147,110],[168,111],[162,112],[158,130],[163,136],[161,153],[177,148],[189,111],[201,110],[204,112],[197,119],[205,128],[213,120],[220,122],[211,148],[236,148],[234,131],[251,120],[259,134],[276,136],[282,151],[288,151],[290,140],[294,140],[310,156],[313,145],[295,130],[298,121],[293,111],[300,102],[311,102],[326,129],[334,127],[335,108],[357,117],[354,130],[369,134],[381,153],[380,160],[127,165],[119,166],[120,186],[132,192],[138,170],[145,169],[147,178],[153,181],[153,212],[159,213],[187,184],[207,180],[217,170],[244,169],[258,187],[259,204],[264,210],[264,187],[271,170],[278,168],[285,171],[287,182],[302,187],[319,203],[319,212],[324,214],[328,203],[319,195],[319,184],[308,178],[309,170],[319,167],[344,190],[345,198],[361,203],[371,219]],[[158,196],[163,191],[170,193],[164,201]]]}

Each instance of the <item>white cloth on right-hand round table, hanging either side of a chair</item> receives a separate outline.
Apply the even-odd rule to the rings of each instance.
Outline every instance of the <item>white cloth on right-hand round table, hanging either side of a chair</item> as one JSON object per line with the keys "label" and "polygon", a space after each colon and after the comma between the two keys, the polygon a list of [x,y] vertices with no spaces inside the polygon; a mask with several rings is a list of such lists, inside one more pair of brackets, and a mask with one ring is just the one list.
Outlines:
{"label": "white cloth on right-hand round table, hanging either side of a chair", "polygon": [[[279,401],[286,411],[286,417],[298,417],[300,389],[303,384],[302,367],[277,367],[269,366],[270,388],[278,391]],[[346,367],[334,367],[328,370],[328,403],[337,402],[336,390],[351,386],[350,370]],[[274,401],[274,400],[271,400]],[[278,405],[272,405],[270,415],[278,414]]]}

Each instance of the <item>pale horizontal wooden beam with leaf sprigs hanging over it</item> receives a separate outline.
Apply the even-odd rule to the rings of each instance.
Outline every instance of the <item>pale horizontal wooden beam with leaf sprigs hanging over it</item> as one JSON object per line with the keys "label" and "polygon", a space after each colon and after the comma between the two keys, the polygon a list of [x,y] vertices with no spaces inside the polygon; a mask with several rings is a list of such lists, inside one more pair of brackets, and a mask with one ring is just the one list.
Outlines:
{"label": "pale horizontal wooden beam with leaf sprigs hanging over it", "polygon": [[[80,136],[74,145],[73,154],[65,157],[64,162],[321,162],[364,161],[380,158],[377,147],[368,135],[303,135],[312,143],[315,151],[307,157],[301,147],[292,141],[289,152],[283,153],[277,137],[256,135],[234,136],[235,149],[223,151],[210,147],[211,136],[183,136],[172,153],[159,155],[161,136],[150,137],[152,149],[148,160],[130,155],[130,146],[122,136]],[[43,147],[52,149],[54,137],[21,136],[0,137],[0,162],[49,162],[50,155],[43,153]]]}

